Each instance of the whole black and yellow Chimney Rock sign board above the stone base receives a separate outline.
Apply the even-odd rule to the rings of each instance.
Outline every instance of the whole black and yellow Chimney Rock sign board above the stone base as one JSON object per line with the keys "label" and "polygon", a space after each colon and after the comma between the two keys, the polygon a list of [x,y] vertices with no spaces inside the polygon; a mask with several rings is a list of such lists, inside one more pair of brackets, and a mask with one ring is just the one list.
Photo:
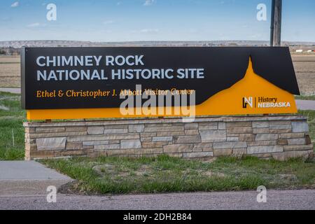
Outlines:
{"label": "whole black and yellow Chimney Rock sign board above the stone base", "polygon": [[300,94],[284,47],[23,48],[21,63],[33,120],[296,113]]}

